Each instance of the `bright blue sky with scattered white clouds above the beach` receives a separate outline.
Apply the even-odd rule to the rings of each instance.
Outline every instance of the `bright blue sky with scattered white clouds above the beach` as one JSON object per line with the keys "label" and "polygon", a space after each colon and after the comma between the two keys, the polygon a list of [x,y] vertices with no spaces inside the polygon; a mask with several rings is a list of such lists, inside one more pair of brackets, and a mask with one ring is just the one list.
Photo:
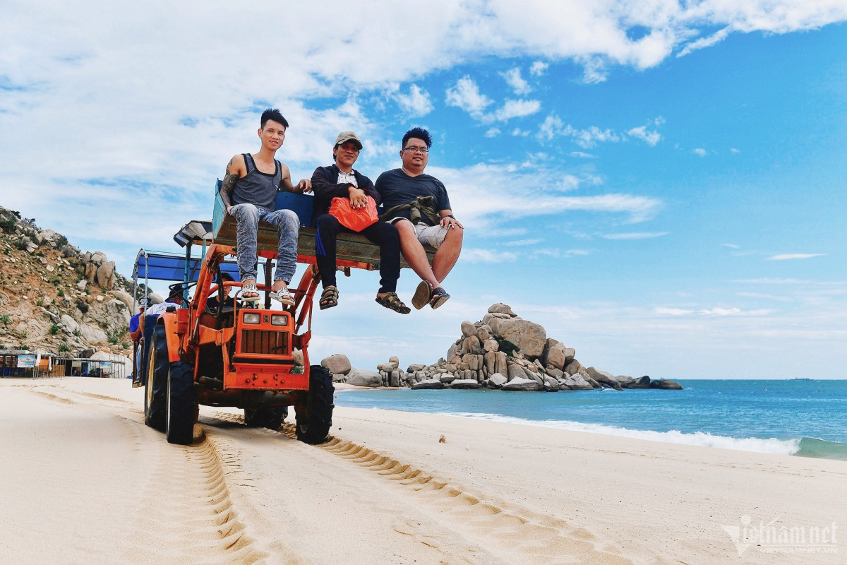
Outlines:
{"label": "bright blue sky with scattered white clouds above the beach", "polygon": [[211,217],[264,107],[295,180],[348,129],[375,179],[423,125],[453,297],[402,317],[340,278],[313,359],[431,363],[506,302],[615,374],[847,378],[847,4],[587,6],[3,2],[0,205],[129,275]]}

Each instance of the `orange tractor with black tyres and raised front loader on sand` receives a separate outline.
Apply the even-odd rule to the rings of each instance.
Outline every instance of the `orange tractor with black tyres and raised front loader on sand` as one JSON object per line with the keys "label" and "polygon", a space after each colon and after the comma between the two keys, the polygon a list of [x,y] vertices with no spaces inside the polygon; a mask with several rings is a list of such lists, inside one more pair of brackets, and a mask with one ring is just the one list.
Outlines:
{"label": "orange tractor with black tyres and raised front loader on sand", "polygon": [[[237,300],[241,283],[222,276],[224,267],[232,268],[225,258],[237,253],[235,219],[224,213],[217,197],[213,239],[202,263],[197,266],[195,259],[195,269],[189,269],[191,258],[185,258],[182,304],[145,320],[143,363],[133,384],[145,387],[144,423],[163,431],[170,443],[191,443],[199,404],[243,408],[245,424],[271,429],[280,427],[293,406],[299,440],[315,444],[329,435],[332,376],[320,365],[310,365],[308,357],[319,282],[315,230],[304,227],[312,221],[312,197],[280,192],[277,208],[293,209],[301,219],[297,262],[308,267],[296,290],[291,289],[293,307],[270,309],[277,235],[264,223],[257,241],[257,254],[265,258],[265,280],[257,283],[265,294],[263,305]],[[347,274],[349,269],[379,268],[379,247],[361,235],[339,235],[337,252],[337,267]],[[191,286],[194,292],[188,298]],[[229,297],[230,291],[236,298]]]}

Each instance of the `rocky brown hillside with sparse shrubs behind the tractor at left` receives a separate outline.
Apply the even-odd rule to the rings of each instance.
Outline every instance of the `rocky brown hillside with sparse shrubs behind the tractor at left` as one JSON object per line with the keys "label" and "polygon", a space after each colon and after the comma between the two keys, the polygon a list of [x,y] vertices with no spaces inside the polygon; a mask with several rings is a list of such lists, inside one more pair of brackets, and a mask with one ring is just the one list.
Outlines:
{"label": "rocky brown hillside with sparse shrubs behind the tractor at left", "polygon": [[104,253],[0,207],[0,349],[128,356],[132,290]]}

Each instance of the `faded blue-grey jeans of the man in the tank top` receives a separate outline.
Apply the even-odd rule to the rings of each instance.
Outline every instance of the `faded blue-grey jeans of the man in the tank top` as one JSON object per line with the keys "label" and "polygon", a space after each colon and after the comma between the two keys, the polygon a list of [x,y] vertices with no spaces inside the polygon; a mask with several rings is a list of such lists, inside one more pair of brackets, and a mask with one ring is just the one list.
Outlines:
{"label": "faded blue-grey jeans of the man in the tank top", "polygon": [[238,270],[241,273],[241,280],[256,280],[257,232],[259,221],[264,220],[274,225],[280,236],[274,280],[283,280],[286,285],[290,283],[297,268],[297,232],[300,230],[300,219],[297,218],[297,214],[291,210],[271,212],[253,204],[236,204],[232,207],[230,214],[238,222],[235,241],[238,246]]}

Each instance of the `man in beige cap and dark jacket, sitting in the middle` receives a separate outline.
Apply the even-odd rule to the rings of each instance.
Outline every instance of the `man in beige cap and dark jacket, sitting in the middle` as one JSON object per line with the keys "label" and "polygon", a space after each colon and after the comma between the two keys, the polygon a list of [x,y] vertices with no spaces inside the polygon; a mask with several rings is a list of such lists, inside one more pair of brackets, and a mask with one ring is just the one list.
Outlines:
{"label": "man in beige cap and dark jacket, sitting in the middle", "polygon": [[364,209],[368,197],[379,204],[379,193],[374,183],[364,174],[353,169],[359,158],[362,141],[352,131],[342,131],[335,138],[332,157],[335,163],[329,167],[318,167],[312,174],[312,190],[315,195],[315,217],[318,233],[315,235],[315,255],[324,292],[318,306],[321,310],[338,304],[338,287],[335,282],[335,240],[340,233],[360,233],[368,241],[379,246],[379,292],[376,302],[395,312],[407,314],[409,307],[397,296],[397,279],[400,278],[400,237],[397,229],[385,222],[375,222],[358,232],[341,225],[329,213],[333,198],[349,198],[352,208]]}

